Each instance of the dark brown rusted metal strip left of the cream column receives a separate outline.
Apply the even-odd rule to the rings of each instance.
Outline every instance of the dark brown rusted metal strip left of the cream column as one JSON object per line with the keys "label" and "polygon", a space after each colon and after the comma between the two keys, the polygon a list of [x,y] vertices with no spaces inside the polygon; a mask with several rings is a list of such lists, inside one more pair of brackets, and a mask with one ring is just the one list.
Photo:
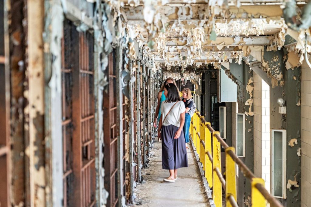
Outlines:
{"label": "dark brown rusted metal strip left of the cream column", "polygon": [[[24,90],[27,90],[26,78],[26,38],[27,24],[23,25],[27,19],[26,11],[27,1],[19,0],[12,2],[9,19],[10,30],[10,71],[11,71],[11,145],[12,145],[12,188],[11,204],[26,205],[28,196],[25,193],[27,186],[26,179],[29,175],[26,173],[24,149],[24,138],[27,138],[28,130],[24,129],[26,124],[26,114],[24,107],[27,105],[27,98],[24,96]],[[26,159],[27,160],[27,159]],[[26,188],[27,189],[27,188]],[[25,196],[23,196],[25,193]]]}

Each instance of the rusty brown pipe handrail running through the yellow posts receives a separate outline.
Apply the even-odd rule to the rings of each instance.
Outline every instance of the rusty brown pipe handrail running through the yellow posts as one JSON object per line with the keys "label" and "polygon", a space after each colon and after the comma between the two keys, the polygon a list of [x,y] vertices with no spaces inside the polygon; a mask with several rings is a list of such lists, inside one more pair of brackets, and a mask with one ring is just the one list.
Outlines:
{"label": "rusty brown pipe handrail running through the yellow posts", "polygon": [[[200,121],[205,123],[207,122],[202,116],[201,114],[197,113],[197,115],[200,118]],[[215,132],[215,130],[210,126],[210,125],[206,125],[207,128],[209,129],[209,131],[211,131],[211,133]],[[227,143],[221,138],[221,136],[219,136],[218,134],[215,134],[216,139],[220,142],[220,145],[226,149],[229,147],[229,145],[227,145]],[[202,140],[203,141],[203,140]],[[202,143],[203,144],[203,143]],[[205,143],[204,143],[205,146]],[[205,149],[205,147],[204,147]],[[209,152],[207,152],[206,154],[209,154]],[[234,162],[239,166],[239,169],[241,170],[241,172],[243,173],[244,177],[247,177],[248,179],[252,180],[253,178],[255,178],[256,176],[252,173],[252,171],[250,171],[250,169],[239,159],[239,157],[232,151],[232,150],[228,150],[228,154],[230,155],[230,157],[234,160]],[[210,155],[210,154],[209,154]],[[208,156],[209,159],[212,162],[212,157],[210,158],[210,156]],[[215,168],[215,170],[218,170],[218,168]],[[217,171],[216,171],[217,173]],[[218,175],[217,173],[217,175]],[[221,174],[221,173],[220,173]],[[219,175],[218,175],[219,177]],[[222,177],[222,176],[221,176]],[[223,177],[222,177],[223,178]],[[221,182],[221,180],[220,180]],[[221,184],[223,185],[223,182],[221,182]],[[276,207],[283,207],[281,205],[281,203],[279,201],[277,201],[268,191],[267,189],[260,183],[257,183],[255,185],[255,187],[258,189],[258,191],[263,195],[263,197],[272,205],[272,206],[276,206]]]}

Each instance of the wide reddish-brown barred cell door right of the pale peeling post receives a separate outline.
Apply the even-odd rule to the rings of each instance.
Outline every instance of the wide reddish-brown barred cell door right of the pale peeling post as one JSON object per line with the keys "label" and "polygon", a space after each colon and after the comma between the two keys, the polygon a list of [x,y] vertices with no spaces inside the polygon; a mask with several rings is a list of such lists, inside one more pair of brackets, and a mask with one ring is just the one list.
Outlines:
{"label": "wide reddish-brown barred cell door right of the pale peeling post", "polygon": [[64,23],[64,206],[95,205],[93,36]]}

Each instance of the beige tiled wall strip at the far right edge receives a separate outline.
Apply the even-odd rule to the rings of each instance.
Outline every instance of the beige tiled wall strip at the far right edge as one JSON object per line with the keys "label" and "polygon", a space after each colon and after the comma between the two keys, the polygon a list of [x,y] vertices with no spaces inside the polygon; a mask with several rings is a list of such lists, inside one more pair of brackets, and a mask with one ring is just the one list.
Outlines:
{"label": "beige tiled wall strip at the far right edge", "polygon": [[301,66],[301,207],[311,206],[311,69]]}

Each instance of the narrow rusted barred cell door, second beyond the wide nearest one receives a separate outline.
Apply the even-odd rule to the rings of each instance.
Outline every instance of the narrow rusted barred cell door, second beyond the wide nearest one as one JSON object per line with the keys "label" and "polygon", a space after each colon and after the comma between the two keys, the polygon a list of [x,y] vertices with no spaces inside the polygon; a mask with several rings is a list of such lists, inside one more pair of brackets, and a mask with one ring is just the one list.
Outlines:
{"label": "narrow rusted barred cell door, second beyond the wide nearest one", "polygon": [[117,97],[116,55],[109,54],[106,74],[109,77],[108,90],[104,90],[104,168],[105,189],[109,192],[107,206],[118,204],[118,159],[117,159]]}

